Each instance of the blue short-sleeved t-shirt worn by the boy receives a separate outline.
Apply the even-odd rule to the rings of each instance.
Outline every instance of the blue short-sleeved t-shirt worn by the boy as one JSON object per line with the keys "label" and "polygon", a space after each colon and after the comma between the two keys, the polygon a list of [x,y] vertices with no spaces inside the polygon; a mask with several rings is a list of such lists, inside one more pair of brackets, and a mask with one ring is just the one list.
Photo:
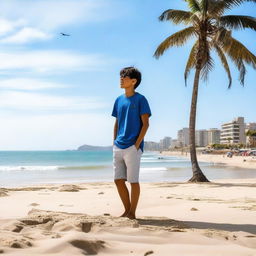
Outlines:
{"label": "blue short-sleeved t-shirt worn by the boy", "polygon": [[[141,115],[143,114],[151,116],[151,111],[147,99],[138,92],[131,97],[123,94],[116,99],[112,116],[116,117],[118,122],[114,142],[117,147],[125,149],[136,143],[142,128]],[[140,144],[142,151],[143,147],[144,141]]]}

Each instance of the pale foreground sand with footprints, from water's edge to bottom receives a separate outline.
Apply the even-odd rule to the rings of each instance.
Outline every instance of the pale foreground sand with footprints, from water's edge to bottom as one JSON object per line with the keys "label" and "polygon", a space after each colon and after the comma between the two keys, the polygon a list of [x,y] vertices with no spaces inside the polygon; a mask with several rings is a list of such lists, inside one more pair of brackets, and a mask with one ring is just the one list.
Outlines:
{"label": "pale foreground sand with footprints, from water's edge to bottom", "polygon": [[0,189],[4,255],[256,255],[256,179],[142,183],[137,220],[112,182]]}

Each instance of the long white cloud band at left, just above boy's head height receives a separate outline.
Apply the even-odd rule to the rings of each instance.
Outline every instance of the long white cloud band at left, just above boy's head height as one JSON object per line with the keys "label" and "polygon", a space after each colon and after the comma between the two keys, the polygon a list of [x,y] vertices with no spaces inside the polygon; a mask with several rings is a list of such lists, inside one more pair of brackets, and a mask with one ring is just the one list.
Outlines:
{"label": "long white cloud band at left, just above boy's head height", "polygon": [[95,70],[105,65],[102,56],[83,55],[67,51],[0,52],[0,71],[54,73]]}

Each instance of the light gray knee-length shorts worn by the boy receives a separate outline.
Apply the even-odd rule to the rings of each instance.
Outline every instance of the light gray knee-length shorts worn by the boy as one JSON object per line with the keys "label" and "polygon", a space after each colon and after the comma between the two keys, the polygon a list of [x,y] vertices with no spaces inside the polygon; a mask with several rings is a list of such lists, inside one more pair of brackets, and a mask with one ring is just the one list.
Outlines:
{"label": "light gray knee-length shorts worn by the boy", "polygon": [[121,149],[113,146],[114,179],[124,179],[130,183],[139,182],[140,159],[142,151],[132,145]]}

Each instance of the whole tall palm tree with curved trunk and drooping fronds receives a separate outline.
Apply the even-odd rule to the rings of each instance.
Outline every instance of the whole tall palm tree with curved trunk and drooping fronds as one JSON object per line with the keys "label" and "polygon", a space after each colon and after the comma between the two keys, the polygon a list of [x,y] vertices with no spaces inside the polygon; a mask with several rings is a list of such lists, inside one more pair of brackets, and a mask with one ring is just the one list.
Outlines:
{"label": "whole tall palm tree with curved trunk and drooping fronds", "polygon": [[185,68],[185,82],[191,69],[195,69],[193,93],[190,109],[189,138],[190,157],[193,177],[190,182],[208,182],[201,171],[196,156],[195,124],[200,78],[207,79],[209,71],[214,66],[211,51],[215,50],[227,72],[231,87],[232,77],[227,56],[233,61],[240,73],[240,82],[244,85],[246,74],[245,64],[256,69],[256,56],[251,53],[241,42],[232,37],[233,29],[250,28],[256,30],[256,19],[250,16],[224,15],[226,10],[238,6],[243,2],[256,0],[185,0],[189,11],[169,9],[159,17],[160,21],[171,21],[174,24],[188,25],[183,30],[166,38],[155,51],[154,56],[159,58],[170,47],[183,46],[191,37],[196,38],[191,49]]}

